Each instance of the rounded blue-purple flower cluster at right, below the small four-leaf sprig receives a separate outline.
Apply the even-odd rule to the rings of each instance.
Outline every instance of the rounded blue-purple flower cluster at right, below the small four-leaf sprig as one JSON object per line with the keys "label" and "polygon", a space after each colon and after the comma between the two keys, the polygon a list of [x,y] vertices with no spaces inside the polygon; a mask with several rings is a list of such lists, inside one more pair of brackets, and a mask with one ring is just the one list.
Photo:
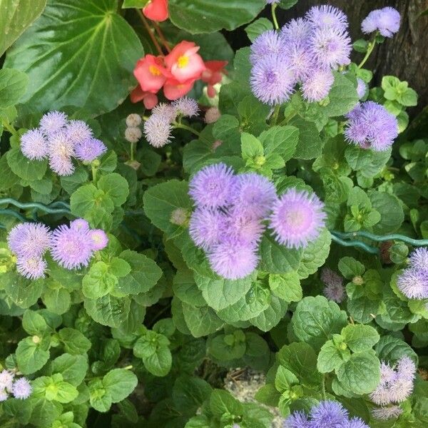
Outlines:
{"label": "rounded blue-purple flower cluster at right, below the small four-leaf sprig", "polygon": [[397,118],[374,101],[360,103],[347,117],[345,137],[362,148],[384,151],[398,136]]}

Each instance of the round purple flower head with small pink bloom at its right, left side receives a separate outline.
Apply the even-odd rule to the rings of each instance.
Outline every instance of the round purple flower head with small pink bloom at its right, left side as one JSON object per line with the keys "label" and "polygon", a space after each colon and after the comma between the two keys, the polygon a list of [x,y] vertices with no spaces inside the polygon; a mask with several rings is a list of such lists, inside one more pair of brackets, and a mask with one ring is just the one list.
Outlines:
{"label": "round purple flower head with small pink bloom at its right, left side", "polygon": [[92,256],[92,245],[87,231],[61,225],[52,234],[52,258],[69,270],[87,266]]}

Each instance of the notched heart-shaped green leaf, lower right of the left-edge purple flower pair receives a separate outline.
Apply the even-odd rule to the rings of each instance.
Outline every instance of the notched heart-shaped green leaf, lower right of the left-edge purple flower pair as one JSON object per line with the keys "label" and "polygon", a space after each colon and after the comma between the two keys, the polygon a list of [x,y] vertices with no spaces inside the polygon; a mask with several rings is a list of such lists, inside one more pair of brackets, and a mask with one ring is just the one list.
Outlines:
{"label": "notched heart-shaped green leaf, lower right of the left-edge purple flower pair", "polygon": [[148,292],[161,279],[162,270],[154,260],[136,251],[125,250],[120,255],[131,266],[131,272],[119,278],[117,289],[125,294]]}

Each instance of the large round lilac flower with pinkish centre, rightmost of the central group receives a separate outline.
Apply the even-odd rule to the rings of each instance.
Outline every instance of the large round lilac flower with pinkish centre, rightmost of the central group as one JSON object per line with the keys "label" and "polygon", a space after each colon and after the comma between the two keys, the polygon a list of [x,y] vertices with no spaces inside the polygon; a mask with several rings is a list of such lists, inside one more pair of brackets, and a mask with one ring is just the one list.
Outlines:
{"label": "large round lilac flower with pinkish centre, rightmost of the central group", "polygon": [[270,228],[275,239],[287,248],[306,247],[325,225],[324,204],[315,194],[294,188],[273,205]]}

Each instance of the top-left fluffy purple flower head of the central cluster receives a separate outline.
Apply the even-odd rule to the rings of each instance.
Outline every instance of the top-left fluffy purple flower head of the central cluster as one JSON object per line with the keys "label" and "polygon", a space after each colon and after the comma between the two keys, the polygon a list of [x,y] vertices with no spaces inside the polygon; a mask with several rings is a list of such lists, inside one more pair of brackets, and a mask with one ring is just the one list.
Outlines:
{"label": "top-left fluffy purple flower head of the central cluster", "polygon": [[193,175],[189,183],[189,195],[200,207],[224,207],[230,202],[234,183],[232,168],[225,163],[215,163]]}

